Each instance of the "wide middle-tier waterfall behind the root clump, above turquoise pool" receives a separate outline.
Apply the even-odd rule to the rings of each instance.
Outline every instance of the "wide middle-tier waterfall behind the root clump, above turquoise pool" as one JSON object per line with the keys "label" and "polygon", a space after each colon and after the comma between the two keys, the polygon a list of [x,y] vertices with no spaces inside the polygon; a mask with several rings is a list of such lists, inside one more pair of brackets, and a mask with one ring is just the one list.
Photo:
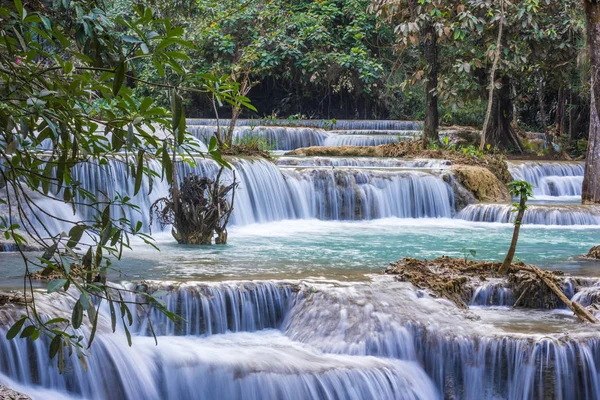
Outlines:
{"label": "wide middle-tier waterfall behind the root clump, above turquoise pool", "polygon": [[[214,177],[218,165],[209,159],[198,159],[190,166],[179,163],[179,178],[195,173]],[[247,225],[285,219],[362,220],[385,217],[450,218],[454,213],[454,194],[450,186],[437,175],[420,171],[360,170],[336,168],[278,168],[262,159],[236,159],[232,162],[240,185],[236,192],[231,223]],[[149,167],[158,172],[160,165],[151,161]],[[223,179],[233,179],[233,171],[225,170]],[[139,210],[114,206],[113,217],[125,216],[135,225],[138,221],[148,227],[148,210],[154,201],[168,196],[166,181],[155,180],[150,191],[148,179],[141,190],[134,192],[134,180],[122,159],[107,164],[77,164],[73,176],[81,187],[95,193],[99,200],[113,199],[119,193],[132,198]],[[85,199],[78,197],[78,201]],[[60,201],[41,202],[49,215],[38,213],[41,223],[54,224],[56,232],[68,231],[68,223],[54,221],[51,215],[68,220],[80,218],[92,221],[89,207],[71,206]],[[60,214],[57,214],[60,213]],[[40,225],[38,224],[38,225]],[[153,230],[160,230],[157,223]]]}

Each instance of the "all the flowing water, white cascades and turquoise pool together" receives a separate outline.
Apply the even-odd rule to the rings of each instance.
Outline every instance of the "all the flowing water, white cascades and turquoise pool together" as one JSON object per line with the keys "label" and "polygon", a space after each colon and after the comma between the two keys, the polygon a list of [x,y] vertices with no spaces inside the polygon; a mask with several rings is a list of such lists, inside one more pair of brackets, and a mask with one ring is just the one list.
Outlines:
{"label": "all the flowing water, white cascades and turquoise pool together", "polygon": [[[201,141],[216,125],[190,122]],[[397,132],[421,128],[401,121],[255,122],[240,121],[235,135],[259,132],[281,149],[323,145],[336,136],[397,140],[411,136]],[[226,246],[180,246],[168,227],[154,226],[160,252],[134,243],[109,274],[115,285],[166,290],[167,308],[185,323],[176,326],[151,310],[158,346],[148,319],[136,318],[128,347],[122,327],[109,332],[110,312],[101,304],[88,371],[74,354],[63,375],[48,359],[47,341],[7,341],[5,324],[0,384],[35,399],[599,398],[600,334],[567,309],[513,309],[510,289],[487,281],[464,312],[381,274],[403,257],[504,257],[511,206],[457,208],[450,164],[356,157],[232,160],[240,186]],[[179,175],[214,176],[217,168],[199,160],[193,168],[180,164]],[[579,257],[600,244],[600,211],[573,204],[581,195],[582,164],[512,163],[510,171],[534,184],[537,199],[526,213],[517,256],[581,277],[564,291],[582,304],[600,299],[600,263]],[[80,165],[76,177],[84,188],[110,197],[133,192],[119,160]],[[148,194],[150,182],[144,181],[133,198],[141,212],[126,216],[146,226],[150,204],[167,189],[154,182]],[[84,208],[74,216],[52,200],[39,205],[65,221],[91,218]],[[32,221],[38,227],[51,222],[32,214],[39,216]],[[53,222],[50,229],[66,231],[69,224]],[[17,253],[0,253],[4,288],[18,288],[23,271]],[[72,292],[45,295],[38,286],[42,313],[75,301]],[[19,312],[0,308],[0,320]],[[86,327],[80,333],[89,334]]]}

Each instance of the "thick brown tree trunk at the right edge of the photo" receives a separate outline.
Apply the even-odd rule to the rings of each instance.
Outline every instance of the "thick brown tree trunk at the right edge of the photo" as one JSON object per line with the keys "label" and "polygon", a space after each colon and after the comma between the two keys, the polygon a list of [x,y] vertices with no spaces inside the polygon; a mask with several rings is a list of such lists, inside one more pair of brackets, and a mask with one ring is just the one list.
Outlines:
{"label": "thick brown tree trunk at the right edge of the photo", "polygon": [[591,69],[590,131],[581,202],[600,203],[600,3],[583,2]]}

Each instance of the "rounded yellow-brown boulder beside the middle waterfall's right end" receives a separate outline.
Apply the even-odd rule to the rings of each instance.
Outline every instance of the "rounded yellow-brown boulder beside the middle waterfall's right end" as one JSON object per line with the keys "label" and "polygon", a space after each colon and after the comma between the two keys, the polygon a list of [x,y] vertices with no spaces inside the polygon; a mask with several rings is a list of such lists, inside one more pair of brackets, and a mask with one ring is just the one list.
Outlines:
{"label": "rounded yellow-brown boulder beside the middle waterfall's right end", "polygon": [[510,201],[506,186],[487,168],[471,165],[455,165],[452,172],[456,179],[480,201]]}

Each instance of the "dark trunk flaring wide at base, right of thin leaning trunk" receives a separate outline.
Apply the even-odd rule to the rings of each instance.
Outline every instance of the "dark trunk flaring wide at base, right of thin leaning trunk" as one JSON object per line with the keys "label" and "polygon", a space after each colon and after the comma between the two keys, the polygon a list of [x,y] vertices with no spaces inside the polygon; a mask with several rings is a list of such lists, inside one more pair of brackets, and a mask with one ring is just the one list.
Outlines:
{"label": "dark trunk flaring wide at base, right of thin leaning trunk", "polygon": [[490,107],[489,122],[485,134],[482,132],[482,146],[523,152],[523,143],[511,125],[512,101],[510,97],[510,78],[501,78],[502,87],[494,91]]}

